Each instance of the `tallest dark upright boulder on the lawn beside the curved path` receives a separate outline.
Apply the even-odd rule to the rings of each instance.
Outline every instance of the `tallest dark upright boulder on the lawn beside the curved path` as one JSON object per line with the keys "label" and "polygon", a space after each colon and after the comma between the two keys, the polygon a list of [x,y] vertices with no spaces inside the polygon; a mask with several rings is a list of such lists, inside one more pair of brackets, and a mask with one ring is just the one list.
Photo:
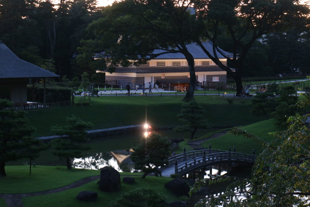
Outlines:
{"label": "tallest dark upright boulder on the lawn beside the curved path", "polygon": [[112,167],[100,169],[99,189],[104,192],[118,191],[121,188],[121,176],[117,170]]}

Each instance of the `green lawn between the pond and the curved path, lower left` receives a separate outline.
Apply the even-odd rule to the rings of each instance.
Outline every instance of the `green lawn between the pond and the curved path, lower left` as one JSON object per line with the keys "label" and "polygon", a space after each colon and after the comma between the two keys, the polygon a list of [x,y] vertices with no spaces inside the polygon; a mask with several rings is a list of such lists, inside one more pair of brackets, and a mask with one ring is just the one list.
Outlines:
{"label": "green lawn between the pond and the curved path, lower left", "polygon": [[[64,166],[6,166],[7,176],[0,178],[0,193],[29,193],[59,188],[80,179],[100,175],[99,170],[72,169]],[[130,173],[121,173],[130,174]],[[142,173],[134,173],[140,175]],[[0,205],[1,206],[1,205]]]}

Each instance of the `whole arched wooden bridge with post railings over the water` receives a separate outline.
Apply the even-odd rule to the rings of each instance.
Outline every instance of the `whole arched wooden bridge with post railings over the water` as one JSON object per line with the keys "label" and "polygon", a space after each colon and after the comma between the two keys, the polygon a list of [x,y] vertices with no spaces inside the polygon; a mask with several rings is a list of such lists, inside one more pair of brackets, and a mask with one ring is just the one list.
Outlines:
{"label": "whole arched wooden bridge with post railings over the water", "polygon": [[195,170],[200,169],[203,166],[220,164],[227,162],[238,162],[243,164],[253,164],[255,161],[255,150],[252,151],[252,155],[236,152],[236,148],[228,148],[228,151],[213,150],[211,144],[209,149],[206,150],[194,150],[185,151],[183,153],[174,155],[168,158],[169,164],[161,168],[162,176],[170,177],[171,174],[179,174],[181,176]]}

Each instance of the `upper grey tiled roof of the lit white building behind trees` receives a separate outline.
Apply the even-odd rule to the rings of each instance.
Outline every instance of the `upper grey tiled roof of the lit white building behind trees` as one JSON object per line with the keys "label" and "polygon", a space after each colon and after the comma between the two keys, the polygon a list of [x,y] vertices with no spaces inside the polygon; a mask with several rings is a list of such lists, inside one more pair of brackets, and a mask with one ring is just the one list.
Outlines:
{"label": "upper grey tiled roof of the lit white building behind trees", "polygon": [[[213,43],[211,41],[207,41],[207,42],[202,42],[202,45],[206,48],[206,50],[208,52],[210,52],[210,54],[213,56]],[[186,45],[188,52],[190,52],[194,59],[209,59],[209,56],[206,55],[205,52],[203,52],[203,50],[201,49],[201,47],[199,45],[197,45],[197,43],[190,43],[188,45]],[[219,50],[226,56],[232,58],[233,54],[230,52],[226,52],[222,49],[219,48]],[[162,53],[162,52],[166,52],[164,50],[154,50],[153,54],[158,54],[158,53]],[[95,58],[98,58],[100,56],[102,56],[102,54],[104,54],[104,52],[100,53],[96,53],[95,54]],[[217,56],[219,58],[225,58],[223,55],[221,55],[219,52],[216,52]],[[160,56],[157,56],[156,58],[153,59],[185,59],[185,56],[182,53],[167,53],[167,54],[163,54]]]}

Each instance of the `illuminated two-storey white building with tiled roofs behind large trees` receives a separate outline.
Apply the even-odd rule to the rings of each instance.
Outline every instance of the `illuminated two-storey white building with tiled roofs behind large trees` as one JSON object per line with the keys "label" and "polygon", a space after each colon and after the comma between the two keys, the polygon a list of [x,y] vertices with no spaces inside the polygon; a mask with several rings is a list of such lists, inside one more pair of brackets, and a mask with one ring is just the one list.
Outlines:
{"label": "illuminated two-storey white building with tiled roofs behind large trees", "polygon": [[[202,43],[203,46],[213,55],[212,42],[207,41]],[[217,66],[206,55],[205,52],[196,43],[187,45],[188,51],[193,55],[195,61],[195,71],[197,82],[226,82],[226,71]],[[165,52],[163,50],[154,50],[153,54]],[[232,58],[232,53],[226,52],[220,49],[220,52],[227,57]],[[217,52],[219,60],[226,65],[227,59]],[[94,56],[100,58],[99,54]],[[128,83],[131,83],[131,88],[135,86],[141,87],[145,83],[145,87],[148,87],[148,83],[152,85],[159,83],[159,87],[162,84],[169,83],[189,83],[189,69],[185,56],[181,53],[168,53],[159,55],[156,58],[147,62],[147,64],[130,67],[117,67],[114,73],[108,73],[107,70],[97,70],[97,72],[106,72],[105,80],[107,83],[114,83],[119,87],[125,87]],[[172,89],[172,88],[171,88]]]}

